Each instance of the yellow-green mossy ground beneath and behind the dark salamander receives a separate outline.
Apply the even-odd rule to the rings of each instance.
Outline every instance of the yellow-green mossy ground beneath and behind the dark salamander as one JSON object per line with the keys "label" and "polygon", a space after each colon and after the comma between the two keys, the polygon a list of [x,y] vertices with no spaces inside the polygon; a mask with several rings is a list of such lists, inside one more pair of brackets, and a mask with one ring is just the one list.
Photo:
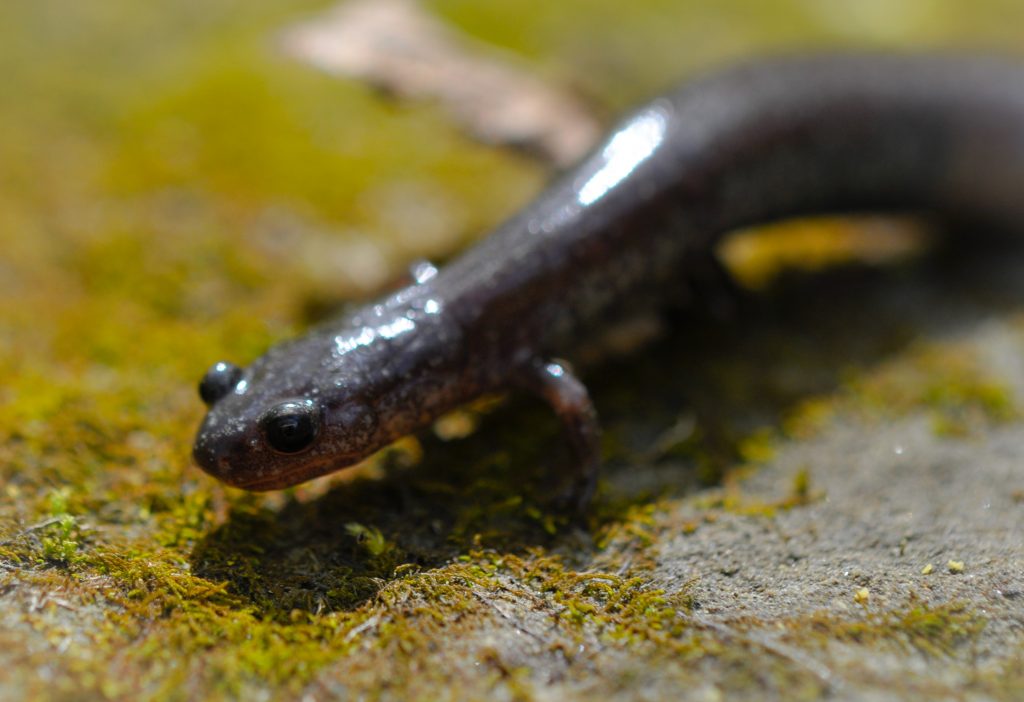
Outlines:
{"label": "yellow-green mossy ground beneath and behind the dark salamander", "polygon": [[[467,439],[411,439],[273,495],[190,467],[211,361],[244,362],[403,261],[450,255],[545,177],[440,111],[283,59],[273,32],[324,6],[0,7],[0,695],[813,699],[864,685],[1014,699],[1019,630],[974,590],[929,585],[967,581],[945,561],[888,599],[843,583],[849,608],[785,616],[730,615],[702,588],[742,563],[667,566],[679,539],[823,519],[827,458],[787,477],[765,466],[837,425],[869,436],[924,418],[969,446],[1018,424],[991,346],[943,334],[970,315],[906,301],[945,304],[936,288],[953,279],[981,299],[956,304],[1016,328],[1021,298],[961,260],[797,276],[731,323],[694,316],[604,366],[607,471],[582,524],[546,507],[564,456],[525,401]],[[853,15],[748,0],[431,7],[608,113],[757,48],[1008,45],[1020,26],[995,0]],[[759,470],[774,493],[744,487]],[[999,554],[990,568],[1019,575],[1019,551]]]}

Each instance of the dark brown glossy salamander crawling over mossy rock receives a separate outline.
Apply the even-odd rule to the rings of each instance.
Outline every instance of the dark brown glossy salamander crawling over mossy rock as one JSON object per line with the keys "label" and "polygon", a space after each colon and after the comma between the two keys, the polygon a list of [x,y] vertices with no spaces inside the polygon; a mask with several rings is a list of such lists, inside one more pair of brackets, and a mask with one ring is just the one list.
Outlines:
{"label": "dark brown glossy salamander crawling over mossy rock", "polygon": [[691,83],[442,270],[271,348],[215,364],[199,465],[250,490],[349,466],[483,393],[547,400],[593,493],[598,425],[556,357],[684,295],[736,227],[924,209],[1024,220],[1024,67],[952,55],[769,59]]}

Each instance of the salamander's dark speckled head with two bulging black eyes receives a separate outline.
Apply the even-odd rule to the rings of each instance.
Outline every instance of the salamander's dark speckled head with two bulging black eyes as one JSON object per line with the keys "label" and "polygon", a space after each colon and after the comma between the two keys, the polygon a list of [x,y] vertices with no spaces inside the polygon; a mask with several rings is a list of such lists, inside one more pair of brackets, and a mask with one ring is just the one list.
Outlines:
{"label": "salamander's dark speckled head with two bulging black eyes", "polygon": [[193,448],[200,468],[236,487],[272,490],[380,448],[360,359],[339,363],[346,359],[325,354],[328,343],[313,336],[278,346],[245,369],[214,363],[199,386],[209,407]]}

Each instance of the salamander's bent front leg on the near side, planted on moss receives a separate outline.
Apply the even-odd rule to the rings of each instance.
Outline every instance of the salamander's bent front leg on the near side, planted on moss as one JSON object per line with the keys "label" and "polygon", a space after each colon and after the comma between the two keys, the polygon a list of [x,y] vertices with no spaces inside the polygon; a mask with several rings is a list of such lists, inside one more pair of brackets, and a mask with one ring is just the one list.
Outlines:
{"label": "salamander's bent front leg on the near side, planted on moss", "polygon": [[564,361],[535,361],[524,368],[520,385],[542,397],[561,420],[572,450],[572,473],[556,502],[578,513],[587,509],[597,487],[601,465],[601,428],[587,388]]}

